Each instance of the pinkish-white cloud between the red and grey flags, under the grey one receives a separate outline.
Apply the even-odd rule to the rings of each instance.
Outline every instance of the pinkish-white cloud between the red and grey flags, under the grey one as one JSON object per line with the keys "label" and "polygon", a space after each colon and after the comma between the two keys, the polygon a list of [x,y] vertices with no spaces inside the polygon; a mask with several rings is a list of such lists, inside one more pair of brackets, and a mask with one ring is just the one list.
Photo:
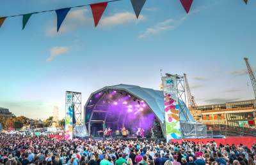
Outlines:
{"label": "pinkish-white cloud between the red and grey flags, under the grey one", "polygon": [[116,25],[129,24],[130,22],[140,22],[144,19],[145,17],[143,15],[140,15],[137,20],[134,13],[131,12],[115,13],[111,16],[103,17],[102,20],[100,20],[99,22],[99,27],[113,27]]}

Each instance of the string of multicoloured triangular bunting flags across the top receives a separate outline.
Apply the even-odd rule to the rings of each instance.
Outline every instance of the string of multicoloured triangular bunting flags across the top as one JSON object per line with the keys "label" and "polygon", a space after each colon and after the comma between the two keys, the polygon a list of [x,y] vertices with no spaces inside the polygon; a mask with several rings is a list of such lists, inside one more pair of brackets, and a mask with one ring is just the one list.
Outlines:
{"label": "string of multicoloured triangular bunting flags across the top", "polygon": [[[92,10],[94,25],[96,27],[99,24],[100,18],[102,17],[102,14],[104,13],[106,7],[108,6],[108,3],[113,3],[116,1],[122,1],[122,0],[111,0],[111,1],[106,1],[106,2],[102,2],[102,3],[83,4],[83,5],[79,5],[79,6],[71,6],[68,8],[60,8],[60,9],[55,9],[55,10],[35,11],[32,13],[4,16],[4,17],[0,17],[0,27],[3,25],[6,18],[22,16],[22,30],[23,30],[25,28],[26,24],[28,23],[29,18],[32,15],[38,14],[38,13],[46,13],[46,12],[55,11],[56,15],[57,15],[57,32],[58,32],[63,20],[65,20],[65,17],[68,15],[68,12],[70,11],[70,9],[82,8],[85,6],[90,6],[90,8]],[[131,0],[132,8],[134,10],[136,18],[139,17],[140,12],[141,12],[144,4],[146,3],[146,1],[147,0]],[[243,1],[245,4],[248,4],[249,0],[243,0]],[[180,0],[180,3],[182,4],[186,13],[189,13],[189,10],[192,6],[193,0]]]}

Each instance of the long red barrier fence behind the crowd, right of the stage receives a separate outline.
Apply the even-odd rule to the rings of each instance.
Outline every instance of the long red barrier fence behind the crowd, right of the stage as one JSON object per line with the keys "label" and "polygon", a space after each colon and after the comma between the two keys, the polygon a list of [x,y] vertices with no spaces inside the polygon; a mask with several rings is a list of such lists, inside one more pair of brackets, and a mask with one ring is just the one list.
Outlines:
{"label": "long red barrier fence behind the crowd, right of the stage", "polygon": [[182,141],[194,141],[195,143],[208,143],[210,141],[215,141],[219,146],[220,143],[223,145],[240,145],[243,144],[247,147],[252,147],[253,143],[256,143],[256,137],[228,137],[228,138],[202,138],[202,139],[180,139],[172,140],[172,142],[181,143]]}

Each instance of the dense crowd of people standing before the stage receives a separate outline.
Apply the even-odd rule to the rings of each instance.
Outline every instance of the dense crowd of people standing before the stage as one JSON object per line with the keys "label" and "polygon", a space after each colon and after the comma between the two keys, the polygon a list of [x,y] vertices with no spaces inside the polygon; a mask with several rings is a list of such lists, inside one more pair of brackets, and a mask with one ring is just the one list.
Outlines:
{"label": "dense crowd of people standing before the stage", "polygon": [[256,165],[256,144],[164,143],[148,140],[64,140],[0,134],[0,164]]}

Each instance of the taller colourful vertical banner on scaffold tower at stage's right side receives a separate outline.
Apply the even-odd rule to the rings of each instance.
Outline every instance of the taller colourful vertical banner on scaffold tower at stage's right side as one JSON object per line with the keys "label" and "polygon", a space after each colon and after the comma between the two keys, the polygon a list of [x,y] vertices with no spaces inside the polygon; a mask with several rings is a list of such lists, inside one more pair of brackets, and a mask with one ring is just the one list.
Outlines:
{"label": "taller colourful vertical banner on scaffold tower at stage's right side", "polygon": [[179,97],[176,75],[164,76],[162,77],[162,81],[164,92],[166,141],[180,139]]}

